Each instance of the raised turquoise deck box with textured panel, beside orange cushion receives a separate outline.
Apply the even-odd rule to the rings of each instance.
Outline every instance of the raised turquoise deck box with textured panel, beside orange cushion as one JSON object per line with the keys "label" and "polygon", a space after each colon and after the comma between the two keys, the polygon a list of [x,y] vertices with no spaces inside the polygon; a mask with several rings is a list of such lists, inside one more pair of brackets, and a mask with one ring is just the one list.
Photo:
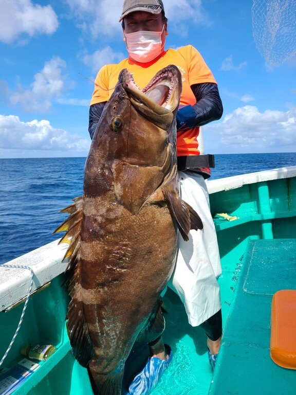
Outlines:
{"label": "raised turquoise deck box with textured panel, beside orange cushion", "polygon": [[295,371],[281,368],[269,356],[272,295],[281,289],[296,288],[295,257],[296,239],[249,243],[226,322],[211,395],[296,393]]}

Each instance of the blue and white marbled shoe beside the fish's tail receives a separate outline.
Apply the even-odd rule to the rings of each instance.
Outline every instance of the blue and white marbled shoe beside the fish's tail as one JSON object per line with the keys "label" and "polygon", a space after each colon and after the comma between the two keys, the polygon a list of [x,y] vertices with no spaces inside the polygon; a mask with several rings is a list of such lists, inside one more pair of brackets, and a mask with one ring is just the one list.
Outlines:
{"label": "blue and white marbled shoe beside the fish's tail", "polygon": [[164,370],[167,369],[173,359],[171,347],[167,344],[165,344],[164,347],[169,358],[165,361],[155,356],[149,358],[144,369],[136,375],[130,388],[128,388],[128,393],[130,395],[148,395],[157,386]]}

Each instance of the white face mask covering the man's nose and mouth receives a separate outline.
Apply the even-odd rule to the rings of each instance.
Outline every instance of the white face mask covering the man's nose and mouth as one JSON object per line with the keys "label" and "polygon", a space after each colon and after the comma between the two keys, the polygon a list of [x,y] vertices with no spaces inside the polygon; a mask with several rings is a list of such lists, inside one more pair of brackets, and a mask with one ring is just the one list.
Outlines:
{"label": "white face mask covering the man's nose and mouth", "polygon": [[147,63],[157,58],[164,47],[161,31],[136,31],[125,33],[127,51],[136,62]]}

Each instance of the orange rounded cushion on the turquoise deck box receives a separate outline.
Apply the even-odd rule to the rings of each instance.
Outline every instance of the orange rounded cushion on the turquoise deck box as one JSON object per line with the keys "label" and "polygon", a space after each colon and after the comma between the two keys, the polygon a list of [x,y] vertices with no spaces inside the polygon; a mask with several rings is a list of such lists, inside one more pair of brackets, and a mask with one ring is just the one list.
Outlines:
{"label": "orange rounded cushion on the turquoise deck box", "polygon": [[283,368],[296,369],[296,290],[273,295],[270,356]]}

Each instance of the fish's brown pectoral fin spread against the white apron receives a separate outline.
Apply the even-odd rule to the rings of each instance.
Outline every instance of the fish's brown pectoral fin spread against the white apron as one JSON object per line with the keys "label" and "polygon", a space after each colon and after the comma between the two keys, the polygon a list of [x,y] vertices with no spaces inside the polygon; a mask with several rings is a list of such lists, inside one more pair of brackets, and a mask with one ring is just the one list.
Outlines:
{"label": "fish's brown pectoral fin spread against the white apron", "polygon": [[177,189],[172,184],[162,188],[164,199],[168,202],[173,217],[177,222],[180,234],[185,241],[189,240],[191,229],[202,229],[201,219],[197,212],[179,196]]}

